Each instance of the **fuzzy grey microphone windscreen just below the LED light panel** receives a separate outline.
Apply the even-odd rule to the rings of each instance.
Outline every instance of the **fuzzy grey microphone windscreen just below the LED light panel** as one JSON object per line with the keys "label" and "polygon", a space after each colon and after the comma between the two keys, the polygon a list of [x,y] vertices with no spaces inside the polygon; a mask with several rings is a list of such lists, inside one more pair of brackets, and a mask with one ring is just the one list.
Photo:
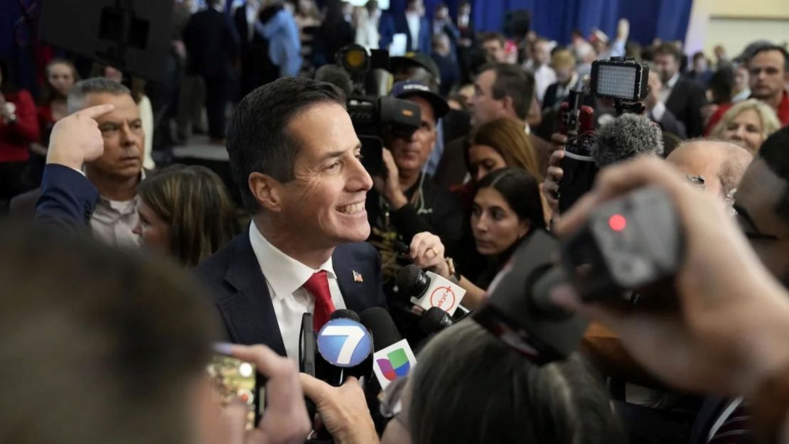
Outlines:
{"label": "fuzzy grey microphone windscreen just below the LED light panel", "polygon": [[596,131],[592,158],[603,168],[639,155],[662,155],[660,126],[638,114],[623,114]]}

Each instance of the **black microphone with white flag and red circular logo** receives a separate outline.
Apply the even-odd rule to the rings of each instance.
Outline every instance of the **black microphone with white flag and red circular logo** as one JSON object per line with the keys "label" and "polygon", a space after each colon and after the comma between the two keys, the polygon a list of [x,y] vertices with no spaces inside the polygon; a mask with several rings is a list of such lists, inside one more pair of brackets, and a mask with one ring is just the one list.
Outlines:
{"label": "black microphone with white flag and red circular logo", "polygon": [[411,303],[429,310],[441,308],[444,312],[454,315],[466,290],[442,278],[432,271],[421,270],[410,264],[398,271],[395,280],[398,289],[411,297]]}

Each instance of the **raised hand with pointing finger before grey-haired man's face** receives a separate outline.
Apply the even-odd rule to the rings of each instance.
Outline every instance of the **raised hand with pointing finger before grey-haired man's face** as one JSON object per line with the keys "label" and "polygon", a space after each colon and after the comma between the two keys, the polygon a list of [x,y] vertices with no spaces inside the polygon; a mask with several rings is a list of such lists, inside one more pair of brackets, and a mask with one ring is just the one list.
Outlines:
{"label": "raised hand with pointing finger before grey-haired man's face", "polygon": [[47,163],[81,170],[84,162],[104,153],[104,139],[95,118],[114,110],[114,105],[97,105],[79,110],[54,124]]}

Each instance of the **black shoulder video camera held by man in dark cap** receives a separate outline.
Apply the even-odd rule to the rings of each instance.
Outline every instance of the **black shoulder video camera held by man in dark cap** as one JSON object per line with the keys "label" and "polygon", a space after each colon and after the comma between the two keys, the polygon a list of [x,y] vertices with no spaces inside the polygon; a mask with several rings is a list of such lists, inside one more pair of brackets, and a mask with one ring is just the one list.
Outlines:
{"label": "black shoulder video camera held by man in dark cap", "polygon": [[[352,44],[338,50],[335,58],[353,81],[353,95],[346,107],[361,140],[362,165],[371,176],[379,176],[383,173],[383,140],[411,136],[421,124],[421,110],[416,103],[386,95],[388,76],[385,81],[376,78],[376,69],[389,70],[386,50],[368,53],[365,47]],[[372,88],[375,93],[367,94]]]}

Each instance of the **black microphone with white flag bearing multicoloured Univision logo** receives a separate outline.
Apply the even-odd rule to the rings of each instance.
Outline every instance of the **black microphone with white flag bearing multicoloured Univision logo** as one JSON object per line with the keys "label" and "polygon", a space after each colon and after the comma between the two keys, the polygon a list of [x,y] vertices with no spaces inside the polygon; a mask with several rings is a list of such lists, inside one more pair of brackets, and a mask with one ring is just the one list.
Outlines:
{"label": "black microphone with white flag bearing multicoloured Univision logo", "polygon": [[386,389],[394,379],[409,374],[417,358],[413,355],[408,341],[402,338],[397,326],[385,309],[368,308],[361,312],[361,323],[372,331],[375,353],[372,370],[381,389]]}

